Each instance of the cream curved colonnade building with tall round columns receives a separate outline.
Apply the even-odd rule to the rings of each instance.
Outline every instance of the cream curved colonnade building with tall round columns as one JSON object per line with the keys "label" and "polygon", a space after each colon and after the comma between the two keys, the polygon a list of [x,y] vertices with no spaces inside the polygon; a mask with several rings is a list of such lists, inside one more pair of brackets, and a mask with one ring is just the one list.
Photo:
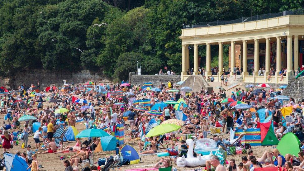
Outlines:
{"label": "cream curved colonnade building with tall round columns", "polygon": [[[302,55],[299,64],[299,40],[304,40],[304,15],[286,15],[264,20],[248,21],[218,26],[206,26],[196,28],[182,29],[182,72],[181,79],[186,80],[187,70],[189,69],[189,49],[188,46],[194,46],[194,69],[193,74],[198,74],[198,47],[206,45],[206,78],[211,75],[211,45],[216,45],[218,51],[218,73],[214,75],[215,81],[220,81],[220,75],[223,73],[223,45],[231,45],[230,48],[230,66],[232,70],[235,66],[235,47],[242,47],[240,53],[242,77],[245,83],[287,83],[288,76],[294,74],[303,64]],[[262,50],[260,45],[263,44]],[[271,46],[272,45],[272,46]],[[252,57],[248,52],[252,47]],[[264,48],[265,47],[265,48]],[[302,47],[301,47],[302,48]],[[302,49],[301,49],[302,50]],[[260,54],[264,53],[265,57]],[[248,56],[248,57],[247,57]],[[275,59],[271,59],[275,56]],[[251,63],[248,62],[251,59]],[[202,57],[202,61],[204,61]],[[262,60],[263,59],[263,60]],[[248,66],[254,68],[250,69]],[[276,74],[268,80],[267,76],[275,66]],[[258,75],[259,68],[265,68],[264,76]],[[280,81],[279,71],[287,68],[286,76]],[[250,72],[249,72],[250,69]],[[253,72],[252,72],[253,70]],[[232,74],[230,73],[230,76]]]}

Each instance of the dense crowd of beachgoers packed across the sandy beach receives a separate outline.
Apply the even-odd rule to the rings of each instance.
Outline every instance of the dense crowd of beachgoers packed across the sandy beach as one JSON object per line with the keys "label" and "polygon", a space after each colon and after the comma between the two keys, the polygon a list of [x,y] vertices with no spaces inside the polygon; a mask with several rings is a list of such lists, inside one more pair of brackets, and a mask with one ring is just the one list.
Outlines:
{"label": "dense crowd of beachgoers packed across the sandy beach", "polygon": [[[234,70],[236,71],[236,69]],[[145,130],[151,119],[163,122],[176,118],[177,111],[181,111],[187,116],[184,121],[185,125],[174,133],[139,140],[140,154],[154,154],[158,152],[159,148],[164,149],[164,146],[159,146],[159,144],[166,138],[170,140],[169,146],[178,150],[179,156],[186,155],[188,149],[185,140],[177,138],[183,135],[192,135],[197,139],[212,138],[216,141],[217,146],[226,149],[230,145],[229,140],[225,140],[218,135],[211,137],[208,134],[210,127],[221,123],[222,133],[228,134],[230,129],[256,128],[260,121],[259,114],[252,113],[250,109],[236,109],[229,103],[221,102],[227,97],[233,99],[233,101],[247,103],[254,109],[265,108],[265,117],[272,115],[274,132],[279,140],[288,132],[303,131],[302,109],[304,108],[304,100],[295,102],[293,98],[290,98],[289,102],[286,102],[286,104],[296,105],[296,107],[290,115],[291,121],[287,122],[284,127],[282,113],[278,109],[286,104],[278,99],[271,98],[275,92],[274,89],[265,90],[262,88],[260,93],[253,93],[254,88],[235,88],[235,91],[228,96],[224,89],[220,89],[219,93],[208,92],[203,88],[192,93],[172,92],[169,90],[172,88],[178,90],[179,88],[173,81],[153,85],[160,91],[144,90],[145,87],[142,87],[142,85],[120,86],[124,83],[128,83],[128,81],[123,80],[120,84],[102,84],[101,86],[107,90],[107,93],[99,92],[97,83],[92,83],[92,88],[80,89],[81,85],[66,85],[67,88],[51,88],[47,92],[33,91],[34,84],[31,85],[32,88],[26,88],[22,84],[18,90],[13,91],[9,96],[2,97],[1,100],[1,112],[4,114],[3,116],[7,117],[7,121],[3,121],[3,126],[0,128],[2,134],[0,142],[3,152],[10,153],[10,149],[18,145],[18,140],[21,138],[22,146],[27,151],[25,153],[17,152],[17,154],[26,160],[28,167],[32,170],[39,169],[37,160],[39,155],[63,152],[77,152],[69,160],[64,160],[65,170],[77,170],[78,163],[89,158],[90,151],[96,148],[100,139],[94,138],[89,144],[83,144],[84,142],[77,138],[74,146],[64,147],[63,142],[60,142],[59,145],[55,144],[53,135],[57,129],[75,126],[76,121],[83,120],[86,129],[96,127],[110,133],[111,126],[123,123],[130,127],[131,132],[136,132],[140,126]],[[39,87],[39,85],[34,87]],[[111,94],[111,92],[118,90],[121,90],[123,94]],[[84,101],[78,103],[75,97]],[[134,102],[139,99],[149,100],[149,105],[142,106],[146,111],[149,111],[156,103],[169,100],[178,101],[183,99],[184,105],[179,105],[176,108],[173,104],[166,104],[166,106],[159,107],[156,111],[160,114],[154,116],[136,110]],[[45,105],[46,100],[49,101],[48,105]],[[121,105],[116,105],[116,103],[121,103]],[[85,106],[88,107],[82,108]],[[61,108],[67,109],[68,112],[55,112]],[[130,113],[124,118],[123,114],[127,111],[130,111]],[[34,116],[35,119],[26,121],[22,132],[17,132],[14,128],[21,125],[19,119],[26,115]],[[253,115],[255,117],[252,117]],[[241,119],[242,122],[237,122],[238,119]],[[34,122],[41,123],[36,132],[32,132]],[[34,151],[31,150],[31,145],[28,143],[28,137],[31,133],[33,133],[35,140]],[[40,143],[43,143],[42,147],[40,147]],[[146,145],[147,143],[149,145]],[[249,150],[248,156],[242,156],[242,162],[238,165],[235,163],[235,159],[230,159],[226,169],[219,163],[217,156],[212,156],[211,160],[207,161],[207,168],[209,169],[209,166],[212,165],[216,170],[253,170],[252,168],[282,166],[287,170],[304,170],[302,152],[298,156],[293,156],[294,154],[283,156],[277,149],[274,149],[271,152],[266,151],[261,158],[255,158],[253,154],[254,152]],[[293,162],[290,162],[290,159],[293,159]],[[261,163],[264,163],[264,165]],[[169,160],[161,159],[154,167],[169,167],[170,165]],[[94,167],[91,170],[94,170]]]}

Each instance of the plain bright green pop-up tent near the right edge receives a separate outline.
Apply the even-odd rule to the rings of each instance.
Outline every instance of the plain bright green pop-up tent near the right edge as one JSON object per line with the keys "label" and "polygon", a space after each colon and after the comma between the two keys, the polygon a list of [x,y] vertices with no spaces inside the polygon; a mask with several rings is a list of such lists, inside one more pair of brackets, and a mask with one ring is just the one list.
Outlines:
{"label": "plain bright green pop-up tent near the right edge", "polygon": [[297,154],[300,152],[300,141],[294,133],[288,132],[280,140],[277,149],[283,156],[285,156],[287,153],[297,156]]}

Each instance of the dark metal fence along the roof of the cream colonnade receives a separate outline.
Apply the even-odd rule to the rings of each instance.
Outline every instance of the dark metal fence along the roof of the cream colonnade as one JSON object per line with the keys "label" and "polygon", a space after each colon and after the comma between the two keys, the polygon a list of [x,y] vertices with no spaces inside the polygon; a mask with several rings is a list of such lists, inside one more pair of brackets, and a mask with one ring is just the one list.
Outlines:
{"label": "dark metal fence along the roof of the cream colonnade", "polygon": [[276,13],[268,13],[263,15],[256,15],[252,17],[241,17],[235,20],[229,20],[229,21],[212,21],[212,22],[199,22],[192,26],[186,26],[184,25],[183,28],[196,28],[196,27],[208,27],[208,26],[218,26],[218,25],[224,25],[224,24],[233,24],[233,23],[241,23],[241,22],[248,22],[248,21],[257,21],[257,20],[264,20],[268,18],[274,18],[274,17],[281,17],[281,16],[287,16],[287,15],[303,15],[304,14],[304,8],[295,10],[295,11],[283,11],[283,12],[276,12]]}

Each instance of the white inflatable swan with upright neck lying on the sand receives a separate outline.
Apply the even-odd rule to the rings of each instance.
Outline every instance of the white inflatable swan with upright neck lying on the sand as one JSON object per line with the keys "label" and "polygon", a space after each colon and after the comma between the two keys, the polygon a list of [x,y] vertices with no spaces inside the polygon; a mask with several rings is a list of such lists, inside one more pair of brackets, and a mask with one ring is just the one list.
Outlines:
{"label": "white inflatable swan with upright neck lying on the sand", "polygon": [[212,153],[209,155],[201,155],[199,154],[197,157],[193,157],[193,146],[194,142],[192,139],[186,140],[189,146],[187,152],[187,158],[183,155],[182,157],[178,157],[176,160],[176,164],[178,167],[198,167],[198,166],[206,166],[206,161],[211,159]]}

